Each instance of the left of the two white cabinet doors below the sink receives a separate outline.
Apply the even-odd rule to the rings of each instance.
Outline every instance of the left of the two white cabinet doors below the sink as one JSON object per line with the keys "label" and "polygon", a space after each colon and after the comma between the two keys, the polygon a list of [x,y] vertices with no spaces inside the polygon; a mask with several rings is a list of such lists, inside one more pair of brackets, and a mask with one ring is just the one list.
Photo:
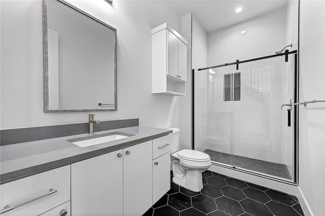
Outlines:
{"label": "left of the two white cabinet doors below the sink", "polygon": [[[71,209],[79,215],[123,215],[122,150],[71,164]],[[120,155],[121,156],[121,155]]]}

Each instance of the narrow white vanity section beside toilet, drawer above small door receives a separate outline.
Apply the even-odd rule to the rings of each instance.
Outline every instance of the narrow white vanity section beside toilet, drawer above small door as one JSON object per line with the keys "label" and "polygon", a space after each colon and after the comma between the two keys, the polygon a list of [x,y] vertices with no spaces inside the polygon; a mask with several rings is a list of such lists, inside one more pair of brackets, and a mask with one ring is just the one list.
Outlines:
{"label": "narrow white vanity section beside toilet, drawer above small door", "polygon": [[170,136],[152,141],[152,203],[170,190]]}

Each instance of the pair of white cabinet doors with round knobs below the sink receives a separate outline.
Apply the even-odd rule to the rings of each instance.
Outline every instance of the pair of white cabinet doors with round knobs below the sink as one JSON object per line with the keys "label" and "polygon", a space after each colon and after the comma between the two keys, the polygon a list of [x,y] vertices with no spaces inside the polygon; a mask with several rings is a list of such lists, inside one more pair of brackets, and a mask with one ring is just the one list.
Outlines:
{"label": "pair of white cabinet doors with round knobs below the sink", "polygon": [[152,206],[152,141],[71,164],[72,215],[142,215]]}

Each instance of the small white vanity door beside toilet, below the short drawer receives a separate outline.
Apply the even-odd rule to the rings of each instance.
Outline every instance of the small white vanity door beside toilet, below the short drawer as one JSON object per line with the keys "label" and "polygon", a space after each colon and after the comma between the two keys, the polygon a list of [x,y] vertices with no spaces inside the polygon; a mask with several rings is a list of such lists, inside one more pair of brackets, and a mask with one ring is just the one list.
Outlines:
{"label": "small white vanity door beside toilet, below the short drawer", "polygon": [[171,187],[170,152],[152,160],[152,203],[158,201]]}

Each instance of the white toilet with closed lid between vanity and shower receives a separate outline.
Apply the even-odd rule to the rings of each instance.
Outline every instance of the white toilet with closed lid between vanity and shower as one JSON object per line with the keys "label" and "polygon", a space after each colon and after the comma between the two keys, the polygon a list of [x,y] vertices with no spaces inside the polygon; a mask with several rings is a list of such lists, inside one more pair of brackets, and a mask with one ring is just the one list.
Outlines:
{"label": "white toilet with closed lid between vanity and shower", "polygon": [[171,138],[171,160],[173,169],[173,182],[190,191],[199,192],[203,188],[202,172],[211,166],[210,156],[204,152],[183,149],[179,147],[179,128],[169,134]]}

